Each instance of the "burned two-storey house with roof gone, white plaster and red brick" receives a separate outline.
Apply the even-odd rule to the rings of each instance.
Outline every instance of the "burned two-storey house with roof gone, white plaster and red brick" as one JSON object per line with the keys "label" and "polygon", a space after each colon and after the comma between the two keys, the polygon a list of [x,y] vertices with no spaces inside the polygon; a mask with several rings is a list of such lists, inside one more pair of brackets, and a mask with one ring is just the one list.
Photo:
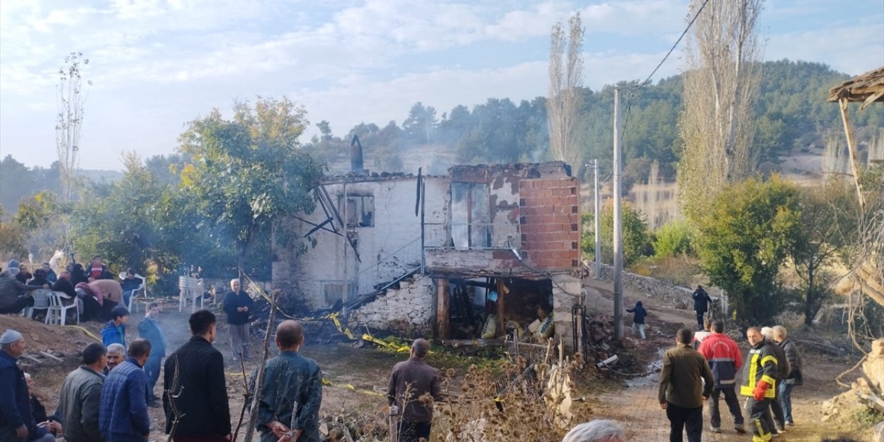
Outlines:
{"label": "burned two-storey house with roof gone, white plaster and red brick", "polygon": [[309,309],[342,310],[351,328],[472,339],[489,314],[502,337],[545,306],[570,341],[580,210],[566,164],[354,173],[315,192],[316,210],[279,225],[273,251],[274,285]]}

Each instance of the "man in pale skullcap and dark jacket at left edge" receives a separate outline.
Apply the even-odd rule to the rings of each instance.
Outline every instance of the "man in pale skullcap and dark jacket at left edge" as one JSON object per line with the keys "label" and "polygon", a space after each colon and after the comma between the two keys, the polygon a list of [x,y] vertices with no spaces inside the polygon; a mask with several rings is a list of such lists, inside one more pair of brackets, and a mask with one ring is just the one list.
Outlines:
{"label": "man in pale skullcap and dark jacket at left edge", "polygon": [[25,338],[11,329],[0,335],[0,440],[55,440],[46,429],[37,427],[31,415],[25,372],[17,363],[25,354]]}

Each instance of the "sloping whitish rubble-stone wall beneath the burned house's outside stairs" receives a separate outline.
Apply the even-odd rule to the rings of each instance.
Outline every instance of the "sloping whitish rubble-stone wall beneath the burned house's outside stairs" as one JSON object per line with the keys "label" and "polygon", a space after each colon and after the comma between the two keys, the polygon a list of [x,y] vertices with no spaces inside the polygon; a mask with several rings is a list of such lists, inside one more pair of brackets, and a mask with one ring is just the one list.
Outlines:
{"label": "sloping whitish rubble-stone wall beneath the burned house's outside stairs", "polygon": [[432,278],[415,275],[404,279],[400,288],[388,289],[375,301],[351,312],[347,325],[351,330],[369,327],[395,331],[402,336],[429,336],[432,327]]}

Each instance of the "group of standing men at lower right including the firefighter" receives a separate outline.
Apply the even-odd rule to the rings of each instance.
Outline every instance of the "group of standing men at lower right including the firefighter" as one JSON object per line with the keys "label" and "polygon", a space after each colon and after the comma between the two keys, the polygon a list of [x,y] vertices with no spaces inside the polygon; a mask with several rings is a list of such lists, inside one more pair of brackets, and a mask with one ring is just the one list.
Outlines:
{"label": "group of standing men at lower right including the firefighter", "polygon": [[[801,356],[786,328],[750,327],[746,331],[750,350],[744,359],[740,347],[724,334],[724,322],[707,319],[701,325],[707,331],[679,330],[675,347],[663,355],[659,403],[671,423],[669,440],[681,441],[686,432],[689,442],[700,441],[705,400],[709,400],[712,431],[720,433],[722,396],[738,433],[747,431],[737,396],[745,398],[753,441],[770,440],[794,427],[791,392],[804,377]],[[698,342],[696,349],[692,342]]]}

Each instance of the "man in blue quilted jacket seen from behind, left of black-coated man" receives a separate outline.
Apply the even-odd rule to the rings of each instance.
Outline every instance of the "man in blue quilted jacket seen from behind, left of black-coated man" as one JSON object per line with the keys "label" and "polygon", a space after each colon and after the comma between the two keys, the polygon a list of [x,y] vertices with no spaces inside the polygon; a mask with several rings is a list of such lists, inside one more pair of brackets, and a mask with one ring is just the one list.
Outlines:
{"label": "man in blue quilted jacket seen from behind, left of black-coated man", "polygon": [[98,429],[110,442],[144,442],[150,434],[148,380],[144,362],[150,356],[150,342],[135,339],[129,357],[104,379],[102,403],[98,409]]}

